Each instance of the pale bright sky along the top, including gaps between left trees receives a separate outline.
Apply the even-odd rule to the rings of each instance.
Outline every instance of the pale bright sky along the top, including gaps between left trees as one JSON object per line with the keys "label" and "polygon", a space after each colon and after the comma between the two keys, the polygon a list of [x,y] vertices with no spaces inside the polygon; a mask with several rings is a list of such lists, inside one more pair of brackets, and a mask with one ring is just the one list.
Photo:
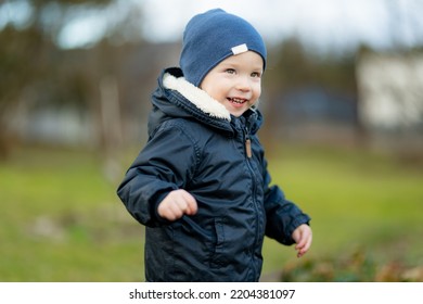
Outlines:
{"label": "pale bright sky along the top, including gaps between left trees", "polygon": [[[24,20],[28,14],[27,0],[5,3],[14,7],[0,10],[0,29],[4,20]],[[133,10],[140,13],[140,23],[134,26],[145,39],[177,41],[194,14],[214,8],[249,21],[269,43],[295,35],[322,50],[349,49],[361,42],[384,49],[393,39],[405,47],[423,45],[421,0],[116,0],[100,13],[84,7],[70,12],[59,43],[63,48],[94,43],[111,24],[125,20]]]}

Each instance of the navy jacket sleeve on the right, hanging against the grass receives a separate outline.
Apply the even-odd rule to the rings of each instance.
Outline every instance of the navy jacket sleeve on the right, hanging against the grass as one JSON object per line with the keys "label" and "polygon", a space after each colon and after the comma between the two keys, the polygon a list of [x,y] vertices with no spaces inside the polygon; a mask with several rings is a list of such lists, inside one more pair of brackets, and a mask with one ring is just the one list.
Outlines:
{"label": "navy jacket sleeve on the right, hanging against the grass", "polygon": [[[267,163],[265,160],[265,168]],[[270,185],[270,175],[265,169],[265,210],[267,215],[266,236],[278,242],[291,245],[295,241],[292,239],[294,230],[303,225],[309,224],[310,217],[293,202],[285,199],[283,191],[278,186]]]}

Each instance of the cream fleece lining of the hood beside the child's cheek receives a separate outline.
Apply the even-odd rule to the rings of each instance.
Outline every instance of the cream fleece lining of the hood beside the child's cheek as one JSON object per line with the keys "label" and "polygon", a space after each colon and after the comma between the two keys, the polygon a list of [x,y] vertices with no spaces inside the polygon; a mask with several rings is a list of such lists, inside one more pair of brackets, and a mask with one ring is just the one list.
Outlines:
{"label": "cream fleece lining of the hood beside the child's cheek", "polygon": [[183,77],[175,77],[169,73],[163,76],[163,85],[166,89],[181,93],[192,104],[211,117],[231,121],[229,111],[202,89],[187,81]]}

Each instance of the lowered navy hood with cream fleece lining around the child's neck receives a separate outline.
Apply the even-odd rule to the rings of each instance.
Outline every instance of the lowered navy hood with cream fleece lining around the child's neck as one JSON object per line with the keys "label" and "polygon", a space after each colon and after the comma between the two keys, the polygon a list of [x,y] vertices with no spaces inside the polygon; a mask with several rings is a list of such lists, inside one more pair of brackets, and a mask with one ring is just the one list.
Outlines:
{"label": "lowered navy hood with cream fleece lining around the child's neck", "polygon": [[[169,118],[192,118],[221,131],[234,132],[238,119],[207,92],[187,81],[178,67],[164,69],[153,92],[153,111],[149,119],[149,132]],[[244,113],[241,121],[248,122],[249,132],[255,134],[261,126],[262,116],[257,110]]]}

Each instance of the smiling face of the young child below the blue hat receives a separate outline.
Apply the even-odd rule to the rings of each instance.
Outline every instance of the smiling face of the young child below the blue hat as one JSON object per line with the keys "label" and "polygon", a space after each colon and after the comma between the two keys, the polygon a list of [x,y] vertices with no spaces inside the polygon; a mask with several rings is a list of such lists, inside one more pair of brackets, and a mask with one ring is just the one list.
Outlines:
{"label": "smiling face of the young child below the blue hat", "polygon": [[247,51],[216,65],[200,85],[234,116],[241,116],[261,93],[262,59]]}

